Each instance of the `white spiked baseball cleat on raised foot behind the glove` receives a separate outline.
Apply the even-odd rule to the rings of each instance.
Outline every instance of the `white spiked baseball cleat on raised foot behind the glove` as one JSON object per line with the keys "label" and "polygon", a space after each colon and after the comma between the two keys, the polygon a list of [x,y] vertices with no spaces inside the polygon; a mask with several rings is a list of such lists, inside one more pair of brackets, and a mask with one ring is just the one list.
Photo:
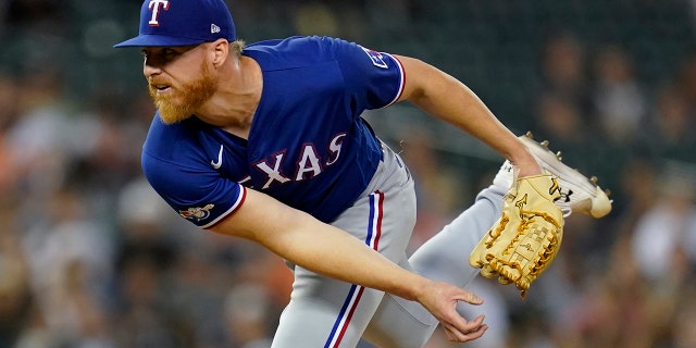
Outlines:
{"label": "white spiked baseball cleat on raised foot behind the glove", "polygon": [[[519,137],[522,144],[530,149],[539,166],[546,172],[558,177],[561,187],[561,199],[556,204],[563,211],[563,216],[572,212],[581,212],[599,219],[611,211],[611,200],[597,185],[597,177],[586,177],[579,171],[569,167],[561,162],[560,152],[554,153],[548,149],[548,141],[536,142],[532,133]],[[494,184],[509,188],[512,184],[512,164],[505,161],[494,179]]]}

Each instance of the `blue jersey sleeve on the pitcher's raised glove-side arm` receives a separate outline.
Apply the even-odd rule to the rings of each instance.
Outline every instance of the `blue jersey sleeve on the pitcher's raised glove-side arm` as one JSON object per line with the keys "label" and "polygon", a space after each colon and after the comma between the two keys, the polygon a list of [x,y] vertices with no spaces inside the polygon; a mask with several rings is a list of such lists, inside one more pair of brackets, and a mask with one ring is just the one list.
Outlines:
{"label": "blue jersey sleeve on the pitcher's raised glove-side arm", "polygon": [[395,103],[406,83],[403,66],[394,55],[336,39],[334,54],[346,90],[359,109],[378,109]]}

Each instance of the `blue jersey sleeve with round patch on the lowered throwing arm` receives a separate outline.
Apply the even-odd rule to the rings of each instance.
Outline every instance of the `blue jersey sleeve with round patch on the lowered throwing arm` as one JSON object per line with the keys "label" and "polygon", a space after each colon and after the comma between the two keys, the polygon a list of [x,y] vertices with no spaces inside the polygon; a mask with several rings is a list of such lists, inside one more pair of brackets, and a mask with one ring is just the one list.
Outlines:
{"label": "blue jersey sleeve with round patch on the lowered throwing arm", "polygon": [[184,219],[210,228],[244,203],[246,188],[204,166],[186,166],[142,152],[152,188]]}

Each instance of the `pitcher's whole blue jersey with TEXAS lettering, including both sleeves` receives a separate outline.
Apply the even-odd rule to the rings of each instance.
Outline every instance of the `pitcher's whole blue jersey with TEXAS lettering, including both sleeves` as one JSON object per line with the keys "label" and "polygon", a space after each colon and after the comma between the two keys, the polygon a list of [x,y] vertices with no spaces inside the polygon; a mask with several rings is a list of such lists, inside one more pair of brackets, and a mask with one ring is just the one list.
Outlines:
{"label": "pitcher's whole blue jersey with TEXAS lettering, including both sleeves", "polygon": [[366,188],[382,159],[360,115],[399,98],[400,63],[326,37],[261,41],[243,54],[263,72],[248,139],[197,117],[165,125],[156,114],[142,149],[146,177],[203,228],[240,207],[246,188],[333,221]]}

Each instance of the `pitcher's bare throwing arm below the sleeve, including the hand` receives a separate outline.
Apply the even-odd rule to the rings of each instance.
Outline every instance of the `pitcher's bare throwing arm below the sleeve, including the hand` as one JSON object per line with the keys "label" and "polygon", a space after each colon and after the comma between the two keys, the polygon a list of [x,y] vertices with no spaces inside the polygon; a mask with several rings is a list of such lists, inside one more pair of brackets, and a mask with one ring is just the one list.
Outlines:
{"label": "pitcher's bare throwing arm below the sleeve, including the hand", "polygon": [[419,301],[452,340],[472,340],[486,331],[483,315],[467,321],[456,311],[458,301],[480,304],[482,299],[475,295],[401,269],[346,232],[268,195],[247,191],[241,207],[210,231],[259,243],[312,272]]}

